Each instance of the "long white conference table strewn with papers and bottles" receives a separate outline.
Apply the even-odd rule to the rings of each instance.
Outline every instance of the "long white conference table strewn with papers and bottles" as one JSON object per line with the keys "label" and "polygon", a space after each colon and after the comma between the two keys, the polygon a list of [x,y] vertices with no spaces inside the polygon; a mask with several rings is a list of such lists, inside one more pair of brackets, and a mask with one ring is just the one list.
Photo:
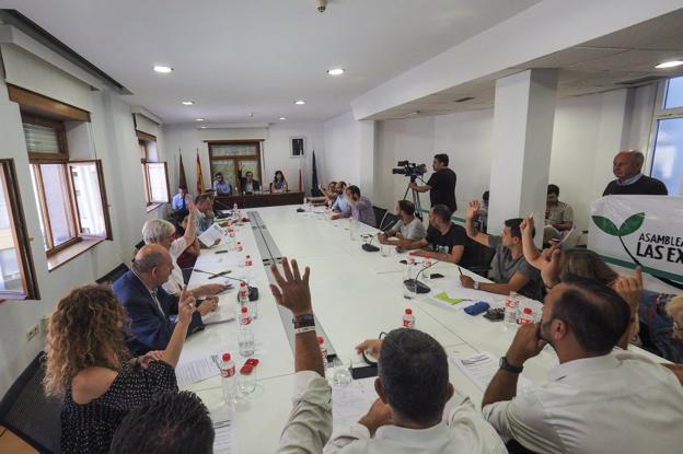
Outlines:
{"label": "long white conference table strewn with papers and bottles", "polygon": [[[467,315],[462,309],[438,302],[429,294],[419,294],[413,300],[404,299],[405,265],[400,263],[402,256],[392,254],[384,257],[379,252],[363,251],[360,240],[351,240],[348,219],[329,221],[321,212],[297,212],[297,208],[300,206],[258,208],[248,212],[258,213],[259,221],[282,257],[296,258],[302,270],[306,266],[311,268],[313,311],[337,356],[361,365],[355,346],[363,339],[377,338],[381,331],[401,327],[406,307],[413,309],[415,328],[435,337],[449,356],[464,358],[477,352],[490,352],[498,358],[506,353],[516,329],[506,328],[500,322],[489,322],[482,315]],[[232,420],[240,452],[270,453],[277,449],[291,410],[294,365],[282,318],[268,288],[269,276],[262,263],[264,258],[271,257],[262,257],[255,236],[259,233],[252,224],[245,222],[235,228],[236,240],[244,246],[243,252],[216,254],[228,248],[227,240],[213,248],[202,249],[188,287],[192,289],[207,282],[227,283],[229,281],[222,277],[209,279],[210,275],[197,270],[221,272],[230,269],[228,276],[238,279],[250,277],[250,283],[259,289],[259,317],[252,324],[256,340],[254,357],[261,361],[256,368],[256,391],[231,408],[223,401],[220,376],[184,388],[199,395],[215,421]],[[377,234],[375,229],[367,225],[357,225],[357,229],[356,233]],[[254,261],[251,271],[241,266],[246,254]],[[458,287],[460,272],[487,281],[448,263],[437,263],[432,271],[444,276],[428,281],[432,293]],[[505,300],[503,295],[488,295],[494,304],[501,304]],[[528,303],[540,307],[537,302]],[[236,307],[236,290],[221,295],[220,305]],[[228,351],[240,368],[245,358],[239,354],[236,338],[238,324],[234,321],[207,326],[204,331],[186,340],[180,365],[207,354]],[[644,350],[636,350],[651,356]],[[556,364],[557,356],[546,347],[524,365],[522,375],[542,385],[546,382],[547,371]],[[479,406],[483,392],[451,362],[449,365],[450,380],[455,389],[470,396]]]}

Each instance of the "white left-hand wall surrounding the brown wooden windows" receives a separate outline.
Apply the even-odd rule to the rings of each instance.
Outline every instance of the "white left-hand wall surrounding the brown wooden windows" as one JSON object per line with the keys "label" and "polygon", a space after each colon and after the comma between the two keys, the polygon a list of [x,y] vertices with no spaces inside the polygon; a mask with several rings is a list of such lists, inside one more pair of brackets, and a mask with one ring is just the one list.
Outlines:
{"label": "white left-hand wall surrounding the brown wooden windows", "polygon": [[70,131],[69,144],[73,148],[74,158],[102,160],[114,240],[102,242],[61,267],[48,271],[19,106],[9,101],[1,80],[1,158],[13,159],[16,167],[28,236],[34,238],[31,253],[42,300],[8,300],[0,303],[0,396],[43,349],[44,333],[26,342],[30,327],[49,314],[59,298],[70,289],[93,282],[120,261],[129,260],[132,246],[141,237],[142,223],[160,214],[159,210],[146,212],[139,149],[130,106],[117,95],[90,92],[92,124],[81,125]]}

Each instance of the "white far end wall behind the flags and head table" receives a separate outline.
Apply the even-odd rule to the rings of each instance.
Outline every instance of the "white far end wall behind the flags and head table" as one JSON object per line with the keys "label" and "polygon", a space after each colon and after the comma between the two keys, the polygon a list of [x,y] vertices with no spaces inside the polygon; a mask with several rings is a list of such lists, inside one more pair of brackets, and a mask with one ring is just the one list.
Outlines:
{"label": "white far end wall behind the flags and head table", "polygon": [[[208,130],[199,130],[196,125],[166,125],[163,127],[164,151],[169,162],[169,179],[172,193],[177,188],[178,182],[178,150],[183,153],[183,164],[187,177],[187,186],[190,194],[196,193],[196,160],[197,150],[201,161],[201,172],[206,186],[211,184],[211,167],[209,166],[209,147],[204,142],[204,136]],[[210,131],[211,140],[235,140],[240,136],[234,135],[234,130],[215,129]],[[246,132],[245,132],[246,133]],[[261,137],[265,138],[263,144],[263,179],[270,182],[275,171],[282,171],[289,187],[298,190],[299,168],[301,168],[303,187],[310,194],[311,188],[311,158],[315,151],[317,161],[319,179],[323,168],[325,158],[325,144],[323,139],[323,124],[278,124],[269,128],[259,128]],[[306,138],[306,155],[304,159],[290,158],[290,137]]]}

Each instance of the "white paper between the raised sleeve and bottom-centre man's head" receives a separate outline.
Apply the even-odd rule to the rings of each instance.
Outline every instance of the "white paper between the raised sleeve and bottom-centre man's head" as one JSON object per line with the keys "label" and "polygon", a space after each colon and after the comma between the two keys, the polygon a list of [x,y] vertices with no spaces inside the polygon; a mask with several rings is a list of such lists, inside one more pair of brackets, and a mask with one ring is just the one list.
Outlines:
{"label": "white paper between the raised sleeve and bottom-centre man's head", "polygon": [[377,400],[374,377],[354,380],[348,385],[332,387],[333,430],[351,426],[368,412]]}

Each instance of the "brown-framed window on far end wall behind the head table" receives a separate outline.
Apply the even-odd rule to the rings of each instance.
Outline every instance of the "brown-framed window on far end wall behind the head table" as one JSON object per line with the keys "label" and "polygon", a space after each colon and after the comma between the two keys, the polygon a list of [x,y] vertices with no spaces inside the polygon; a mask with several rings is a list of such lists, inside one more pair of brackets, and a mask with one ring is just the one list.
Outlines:
{"label": "brown-framed window on far end wall behind the head table", "polygon": [[211,164],[211,181],[218,172],[233,188],[240,187],[238,182],[238,171],[243,167],[244,176],[246,172],[254,173],[254,179],[261,178],[261,142],[209,142],[209,162]]}

